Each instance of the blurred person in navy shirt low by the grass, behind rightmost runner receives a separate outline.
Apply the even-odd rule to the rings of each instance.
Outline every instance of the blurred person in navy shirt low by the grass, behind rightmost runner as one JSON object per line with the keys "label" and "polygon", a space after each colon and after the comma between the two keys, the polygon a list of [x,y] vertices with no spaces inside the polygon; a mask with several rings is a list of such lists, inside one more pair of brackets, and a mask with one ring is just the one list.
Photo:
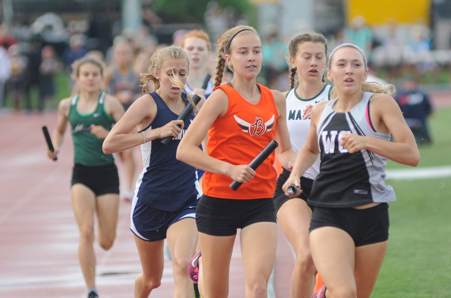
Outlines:
{"label": "blurred person in navy shirt low by the grass, behind rightmost runner", "polygon": [[407,125],[414,133],[417,143],[431,143],[427,119],[434,114],[435,110],[429,101],[428,94],[419,89],[418,81],[415,78],[407,79],[403,89],[395,96],[395,100],[401,108]]}

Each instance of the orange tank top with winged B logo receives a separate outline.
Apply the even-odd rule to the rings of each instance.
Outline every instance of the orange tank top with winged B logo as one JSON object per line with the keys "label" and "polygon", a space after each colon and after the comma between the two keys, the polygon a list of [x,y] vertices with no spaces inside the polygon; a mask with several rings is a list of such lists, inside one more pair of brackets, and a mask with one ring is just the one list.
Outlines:
{"label": "orange tank top with winged B logo", "polygon": [[[228,84],[217,87],[226,92],[229,105],[226,114],[218,117],[208,130],[208,155],[232,165],[249,165],[274,139],[276,121],[279,119],[274,97],[269,88],[257,85],[261,98],[255,105]],[[206,172],[202,178],[203,193],[229,199],[272,197],[277,179],[274,158],[275,153],[272,152],[255,170],[254,178],[236,191],[230,188],[233,179],[229,176]]]}

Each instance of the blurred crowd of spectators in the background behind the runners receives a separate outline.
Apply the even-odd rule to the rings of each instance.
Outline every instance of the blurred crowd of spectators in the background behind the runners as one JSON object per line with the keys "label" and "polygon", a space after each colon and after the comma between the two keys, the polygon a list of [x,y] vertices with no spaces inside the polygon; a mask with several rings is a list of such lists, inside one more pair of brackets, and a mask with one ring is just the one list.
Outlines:
{"label": "blurred crowd of spectators in the background behind the runners", "polygon": [[[147,3],[148,2],[148,3]],[[143,26],[138,32],[122,29],[120,12],[105,9],[92,17],[70,20],[46,13],[29,24],[0,25],[0,110],[54,110],[61,98],[56,91],[61,84],[56,76],[64,74],[64,90],[72,90],[71,64],[84,55],[96,55],[112,67],[115,43],[129,45],[124,59],[139,78],[147,72],[148,59],[159,47],[169,43],[179,45],[187,28],[174,28],[171,39],[155,34],[161,18],[152,10],[152,1],[143,1]],[[211,1],[197,28],[206,31],[213,43],[211,69],[215,68],[215,46],[222,32],[238,24],[249,24],[244,15],[233,9],[221,8]],[[196,27],[196,26],[195,26]],[[175,30],[176,29],[176,30]],[[287,44],[292,34],[309,31],[281,32],[274,23],[258,28],[262,37],[263,65],[260,83],[285,91],[288,87]],[[343,42],[363,48],[369,57],[374,78],[402,87],[400,80],[414,79],[418,83],[449,83],[451,51],[434,50],[430,28],[426,24],[404,25],[389,20],[384,26],[370,27],[363,16],[356,16],[327,36],[329,50]],[[125,41],[125,42],[124,42]],[[32,101],[32,93],[37,100]],[[64,97],[69,94],[63,94]]]}

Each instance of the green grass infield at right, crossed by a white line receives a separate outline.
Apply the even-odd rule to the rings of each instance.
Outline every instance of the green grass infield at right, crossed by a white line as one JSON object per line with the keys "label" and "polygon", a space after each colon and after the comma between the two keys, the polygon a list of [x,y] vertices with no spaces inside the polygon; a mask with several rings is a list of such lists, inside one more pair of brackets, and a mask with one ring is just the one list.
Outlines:
{"label": "green grass infield at right, crossed by a white line", "polygon": [[[433,144],[420,147],[420,168],[451,165],[449,119],[451,108],[430,119]],[[386,183],[397,201],[390,204],[388,252],[372,297],[451,297],[451,178]]]}

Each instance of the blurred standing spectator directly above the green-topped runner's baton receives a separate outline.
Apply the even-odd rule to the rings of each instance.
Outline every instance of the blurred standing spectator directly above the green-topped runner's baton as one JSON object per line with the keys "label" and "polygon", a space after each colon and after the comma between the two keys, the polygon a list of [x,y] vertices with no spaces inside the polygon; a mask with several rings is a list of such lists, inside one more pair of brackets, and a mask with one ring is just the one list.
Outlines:
{"label": "blurred standing spectator directly above the green-topped runner's baton", "polygon": [[61,70],[60,61],[55,57],[55,50],[52,46],[44,46],[41,50],[41,65],[39,67],[39,101],[38,111],[46,108],[46,101],[51,101],[47,107],[56,107],[55,105],[55,74]]}

